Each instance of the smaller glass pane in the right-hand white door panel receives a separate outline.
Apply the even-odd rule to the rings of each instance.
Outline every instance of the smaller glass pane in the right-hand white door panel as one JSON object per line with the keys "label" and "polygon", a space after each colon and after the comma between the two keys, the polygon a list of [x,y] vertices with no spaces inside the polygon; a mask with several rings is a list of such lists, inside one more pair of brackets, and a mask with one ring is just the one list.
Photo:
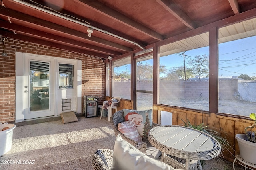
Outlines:
{"label": "smaller glass pane in the right-hand white door panel", "polygon": [[73,65],[59,64],[59,88],[73,88]]}

